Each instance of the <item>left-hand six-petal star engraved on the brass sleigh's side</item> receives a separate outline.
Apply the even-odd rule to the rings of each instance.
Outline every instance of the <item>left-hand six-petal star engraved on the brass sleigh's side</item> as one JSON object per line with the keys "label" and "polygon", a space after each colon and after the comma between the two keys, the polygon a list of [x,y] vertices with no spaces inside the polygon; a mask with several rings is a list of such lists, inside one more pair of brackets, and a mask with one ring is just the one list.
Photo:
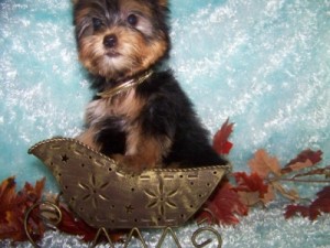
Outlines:
{"label": "left-hand six-petal star engraved on the brass sleigh's side", "polygon": [[86,202],[86,204],[89,204],[91,201],[94,208],[98,208],[100,201],[109,201],[109,198],[101,193],[109,186],[109,182],[100,183],[95,174],[90,175],[88,183],[79,183],[78,185],[84,191],[81,200]]}

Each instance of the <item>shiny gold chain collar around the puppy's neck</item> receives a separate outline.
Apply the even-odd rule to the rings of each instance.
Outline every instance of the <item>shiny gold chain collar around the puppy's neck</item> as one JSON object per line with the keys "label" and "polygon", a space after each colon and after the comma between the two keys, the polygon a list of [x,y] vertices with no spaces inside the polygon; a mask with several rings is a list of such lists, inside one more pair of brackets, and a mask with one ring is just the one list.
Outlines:
{"label": "shiny gold chain collar around the puppy's neck", "polygon": [[111,98],[111,97],[113,97],[118,94],[127,91],[127,90],[144,83],[147,78],[151,77],[151,75],[153,75],[153,73],[154,73],[153,71],[147,71],[142,76],[140,76],[138,79],[132,78],[130,80],[127,80],[127,82],[120,84],[119,86],[117,86],[114,88],[110,88],[110,89],[105,90],[102,93],[98,93],[97,95],[101,98]]}

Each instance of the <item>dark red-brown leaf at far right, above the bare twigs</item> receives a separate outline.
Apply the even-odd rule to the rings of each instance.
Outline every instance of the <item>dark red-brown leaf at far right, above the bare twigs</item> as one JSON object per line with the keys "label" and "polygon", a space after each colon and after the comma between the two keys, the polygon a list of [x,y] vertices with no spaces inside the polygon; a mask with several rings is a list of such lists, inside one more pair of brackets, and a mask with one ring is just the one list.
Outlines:
{"label": "dark red-brown leaf at far right, above the bare twigs", "polygon": [[306,168],[316,165],[322,160],[322,151],[312,151],[310,149],[300,152],[296,159],[292,160],[284,169],[282,174],[287,174],[295,171],[300,171]]}

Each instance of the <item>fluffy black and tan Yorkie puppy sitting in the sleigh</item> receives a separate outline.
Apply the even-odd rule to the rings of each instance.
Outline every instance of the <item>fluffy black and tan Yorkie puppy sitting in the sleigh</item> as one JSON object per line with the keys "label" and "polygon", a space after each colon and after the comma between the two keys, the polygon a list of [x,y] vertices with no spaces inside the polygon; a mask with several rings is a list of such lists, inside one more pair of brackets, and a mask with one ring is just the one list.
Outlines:
{"label": "fluffy black and tan Yorkie puppy sitting in the sleigh", "polygon": [[224,165],[172,71],[166,0],[76,0],[81,64],[97,91],[78,139],[125,171]]}

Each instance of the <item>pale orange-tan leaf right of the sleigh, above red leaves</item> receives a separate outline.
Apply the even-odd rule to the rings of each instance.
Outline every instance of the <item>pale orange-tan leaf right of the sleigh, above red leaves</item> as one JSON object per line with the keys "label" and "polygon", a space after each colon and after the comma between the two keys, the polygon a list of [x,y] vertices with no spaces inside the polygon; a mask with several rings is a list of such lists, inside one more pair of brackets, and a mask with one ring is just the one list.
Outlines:
{"label": "pale orange-tan leaf right of the sleigh, above red leaves", "polygon": [[252,173],[258,174],[262,179],[266,179],[270,173],[276,176],[280,175],[280,166],[278,160],[270,157],[268,153],[260,149],[254,153],[254,158],[249,161]]}

